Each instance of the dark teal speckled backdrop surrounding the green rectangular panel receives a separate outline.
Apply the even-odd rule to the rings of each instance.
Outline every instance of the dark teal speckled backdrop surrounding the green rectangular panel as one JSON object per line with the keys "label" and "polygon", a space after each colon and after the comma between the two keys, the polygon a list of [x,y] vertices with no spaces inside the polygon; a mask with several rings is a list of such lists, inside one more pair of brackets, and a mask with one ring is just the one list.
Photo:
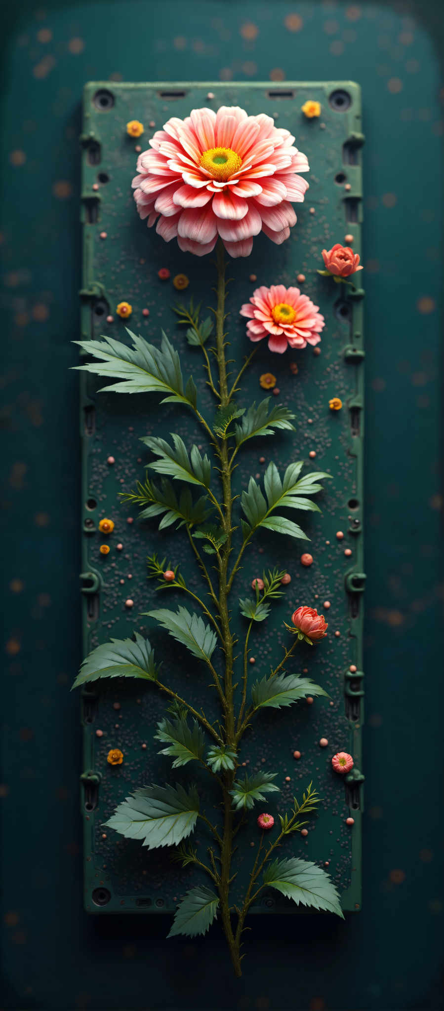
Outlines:
{"label": "dark teal speckled backdrop surrounding the green rectangular panel", "polygon": [[[3,1007],[428,1011],[440,1003],[439,5],[13,5],[2,41]],[[81,904],[80,99],[95,80],[357,80],[366,289],[363,910],[218,929]],[[6,326],[5,326],[6,325]]]}

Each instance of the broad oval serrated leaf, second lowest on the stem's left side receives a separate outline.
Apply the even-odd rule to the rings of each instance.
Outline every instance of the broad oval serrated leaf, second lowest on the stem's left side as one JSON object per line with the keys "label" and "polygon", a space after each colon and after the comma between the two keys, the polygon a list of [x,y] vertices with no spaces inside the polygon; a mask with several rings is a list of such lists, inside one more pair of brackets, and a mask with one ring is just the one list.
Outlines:
{"label": "broad oval serrated leaf, second lowest on the stem's left side", "polygon": [[107,828],[126,839],[142,839],[143,846],[176,846],[193,831],[199,813],[195,787],[143,787],[119,804]]}

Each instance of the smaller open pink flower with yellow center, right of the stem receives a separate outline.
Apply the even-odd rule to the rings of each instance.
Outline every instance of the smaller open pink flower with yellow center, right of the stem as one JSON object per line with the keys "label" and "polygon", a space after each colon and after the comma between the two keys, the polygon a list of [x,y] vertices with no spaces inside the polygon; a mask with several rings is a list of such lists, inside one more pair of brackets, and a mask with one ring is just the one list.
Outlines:
{"label": "smaller open pink flower with yellow center, right of the stem", "polygon": [[256,288],[250,301],[242,306],[241,315],[248,316],[250,341],[268,337],[270,351],[279,354],[286,351],[287,345],[306,348],[307,344],[319,344],[325,327],[319,305],[301,295],[298,288],[285,288],[283,284]]}

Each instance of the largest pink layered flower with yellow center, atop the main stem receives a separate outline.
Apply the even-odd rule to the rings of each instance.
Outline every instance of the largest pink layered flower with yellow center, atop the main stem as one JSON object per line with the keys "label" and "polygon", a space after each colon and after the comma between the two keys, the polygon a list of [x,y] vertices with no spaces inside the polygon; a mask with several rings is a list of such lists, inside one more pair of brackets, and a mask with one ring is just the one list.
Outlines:
{"label": "largest pink layered flower with yellow center, atop the main stem", "polygon": [[[139,156],[132,180],[141,217],[181,250],[203,256],[220,236],[233,257],[249,256],[261,229],[278,245],[288,239],[308,183],[308,162],[287,129],[239,106],[193,109],[173,116]],[[159,216],[160,215],[160,216]]]}

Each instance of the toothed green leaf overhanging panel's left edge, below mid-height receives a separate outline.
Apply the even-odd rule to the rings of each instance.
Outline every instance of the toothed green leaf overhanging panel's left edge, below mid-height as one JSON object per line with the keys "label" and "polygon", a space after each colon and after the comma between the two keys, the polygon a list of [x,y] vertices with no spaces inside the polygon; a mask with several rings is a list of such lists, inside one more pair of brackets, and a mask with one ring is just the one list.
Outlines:
{"label": "toothed green leaf overhanging panel's left edge, below mid-height", "polygon": [[139,632],[132,639],[111,639],[96,646],[83,661],[74,681],[73,688],[86,681],[96,681],[99,677],[142,677],[147,681],[157,680],[154,652],[149,639]]}

